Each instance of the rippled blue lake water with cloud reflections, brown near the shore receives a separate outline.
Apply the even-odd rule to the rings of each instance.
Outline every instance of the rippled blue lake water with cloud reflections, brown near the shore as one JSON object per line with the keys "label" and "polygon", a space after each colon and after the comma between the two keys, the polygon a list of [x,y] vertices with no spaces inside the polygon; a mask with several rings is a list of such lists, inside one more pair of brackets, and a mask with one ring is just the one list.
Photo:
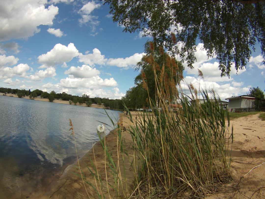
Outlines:
{"label": "rippled blue lake water with cloud reflections, brown near the shore", "polygon": [[[101,123],[96,120],[111,125],[102,113],[103,109],[0,96],[0,198],[41,193],[76,161],[69,118],[80,157],[98,141],[96,128]],[[119,111],[107,113],[118,119]]]}

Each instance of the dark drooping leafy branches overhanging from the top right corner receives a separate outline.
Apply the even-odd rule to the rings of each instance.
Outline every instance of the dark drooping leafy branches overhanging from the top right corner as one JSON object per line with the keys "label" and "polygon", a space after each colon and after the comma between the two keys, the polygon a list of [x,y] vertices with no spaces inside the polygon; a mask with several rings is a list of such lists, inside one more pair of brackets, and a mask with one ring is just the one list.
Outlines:
{"label": "dark drooping leafy branches overhanging from the top right corner", "polygon": [[[265,11],[261,0],[104,3],[109,4],[113,21],[125,27],[123,31],[142,31],[143,36],[153,37],[155,43],[186,59],[190,68],[196,61],[196,41],[204,44],[208,56],[217,56],[221,76],[229,75],[233,63],[236,70],[244,68],[257,42],[265,64]],[[183,45],[179,48],[176,42]]]}

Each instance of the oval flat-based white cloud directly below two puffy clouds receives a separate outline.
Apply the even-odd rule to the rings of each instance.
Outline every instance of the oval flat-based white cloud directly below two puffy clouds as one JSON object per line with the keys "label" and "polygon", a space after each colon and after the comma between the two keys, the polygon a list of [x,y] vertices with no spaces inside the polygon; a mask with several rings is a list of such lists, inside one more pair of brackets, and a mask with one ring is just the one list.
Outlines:
{"label": "oval flat-based white cloud directly below two puffy clouds", "polygon": [[96,68],[91,68],[88,65],[82,65],[81,67],[71,66],[64,74],[72,75],[74,78],[91,78],[100,74]]}

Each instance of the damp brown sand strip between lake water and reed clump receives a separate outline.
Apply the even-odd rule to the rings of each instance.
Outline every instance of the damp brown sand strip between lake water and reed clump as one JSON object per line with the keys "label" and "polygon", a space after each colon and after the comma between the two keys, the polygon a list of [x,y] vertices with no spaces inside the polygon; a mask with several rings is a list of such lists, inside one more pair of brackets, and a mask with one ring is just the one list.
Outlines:
{"label": "damp brown sand strip between lake water and reed clump", "polygon": [[[129,118],[121,114],[123,118],[120,120],[123,120],[124,126],[127,128],[130,124]],[[132,113],[133,118],[136,117],[136,113]],[[133,148],[131,144],[133,144],[133,140],[131,138],[131,135],[127,132],[123,132],[123,138],[126,141],[126,148],[127,152],[129,154],[133,154]],[[105,136],[106,143],[108,145],[108,149],[111,150],[111,153],[113,154],[113,158],[115,161],[117,161],[117,132],[116,129],[112,130],[107,136]],[[95,155],[95,159],[94,159]],[[94,183],[94,176],[90,174],[89,169],[87,168],[87,165],[92,170],[90,158],[92,159],[93,164],[95,164],[96,160],[96,166],[98,168],[98,172],[101,175],[103,186],[106,187],[106,178],[108,179],[108,183],[113,183],[113,177],[111,175],[110,171],[107,171],[107,176],[105,174],[105,154],[103,152],[102,146],[100,142],[96,142],[93,146],[93,148],[83,155],[79,162],[81,166],[82,172],[86,176],[86,180],[89,182]],[[120,161],[122,161],[120,157]],[[58,181],[55,181],[51,184],[50,187],[48,187],[46,193],[37,196],[38,198],[88,198],[86,190],[84,188],[83,182],[80,179],[79,176],[74,175],[73,173],[79,173],[79,170],[76,170],[78,164],[69,165],[64,172],[59,177]],[[131,193],[132,191],[132,184],[134,180],[134,173],[130,168],[130,163],[128,161],[125,162],[125,172],[126,172],[126,182],[124,183],[128,184],[128,193]],[[108,166],[107,166],[108,169]],[[91,198],[97,198],[96,193],[94,190],[90,190],[89,186],[85,183],[87,192],[89,193],[89,196]],[[112,190],[110,190],[112,192]],[[93,194],[93,195],[92,195]],[[106,193],[107,194],[107,193]],[[106,195],[107,196],[107,195]]]}

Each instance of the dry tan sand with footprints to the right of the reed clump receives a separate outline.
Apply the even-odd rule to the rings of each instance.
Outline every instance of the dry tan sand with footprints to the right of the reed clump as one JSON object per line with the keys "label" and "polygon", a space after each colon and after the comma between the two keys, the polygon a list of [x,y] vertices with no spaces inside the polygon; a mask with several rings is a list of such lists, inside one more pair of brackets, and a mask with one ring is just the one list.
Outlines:
{"label": "dry tan sand with footprints to the right of the reed clump", "polygon": [[265,198],[265,163],[262,164],[265,162],[265,121],[258,116],[250,115],[231,121],[234,128],[233,181],[209,198]]}

